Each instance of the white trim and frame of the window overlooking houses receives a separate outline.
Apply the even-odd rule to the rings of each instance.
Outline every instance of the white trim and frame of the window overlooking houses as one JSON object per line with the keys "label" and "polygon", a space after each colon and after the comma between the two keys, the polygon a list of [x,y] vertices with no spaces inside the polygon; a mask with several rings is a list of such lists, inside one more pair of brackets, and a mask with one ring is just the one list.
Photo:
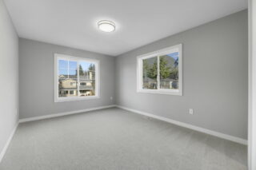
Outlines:
{"label": "white trim and frame of the window overlooking houses", "polygon": [[[85,96],[85,97],[58,97],[58,60],[66,58],[72,61],[90,61],[95,63],[95,96]],[[100,98],[100,71],[99,71],[100,61],[85,57],[74,57],[70,55],[65,55],[61,53],[54,53],[54,102],[62,101],[82,101],[82,100],[92,100]],[[79,89],[78,89],[79,90]]]}

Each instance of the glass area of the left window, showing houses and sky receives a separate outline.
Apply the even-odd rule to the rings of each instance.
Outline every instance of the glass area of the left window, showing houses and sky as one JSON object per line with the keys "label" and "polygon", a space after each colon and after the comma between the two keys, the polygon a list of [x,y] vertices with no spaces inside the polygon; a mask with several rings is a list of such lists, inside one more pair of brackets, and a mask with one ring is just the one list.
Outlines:
{"label": "glass area of the left window, showing houses and sky", "polygon": [[60,56],[58,62],[58,97],[95,96],[95,75],[98,68],[96,61],[83,58]]}

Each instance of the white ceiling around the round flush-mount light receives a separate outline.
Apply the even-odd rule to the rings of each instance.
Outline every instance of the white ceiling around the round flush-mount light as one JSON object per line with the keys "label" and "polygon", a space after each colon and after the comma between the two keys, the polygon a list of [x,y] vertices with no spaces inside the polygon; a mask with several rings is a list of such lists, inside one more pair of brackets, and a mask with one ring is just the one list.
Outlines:
{"label": "white ceiling around the round flush-mount light", "polygon": [[[247,7],[246,0],[5,0],[21,38],[117,56]],[[114,33],[99,20],[116,23]]]}

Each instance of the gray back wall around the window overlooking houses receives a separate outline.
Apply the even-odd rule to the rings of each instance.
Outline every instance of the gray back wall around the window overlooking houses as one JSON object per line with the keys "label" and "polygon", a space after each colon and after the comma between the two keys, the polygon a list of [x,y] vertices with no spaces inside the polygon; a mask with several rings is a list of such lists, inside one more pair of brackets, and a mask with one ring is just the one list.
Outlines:
{"label": "gray back wall around the window overlooking houses", "polygon": [[[20,118],[45,116],[113,105],[114,57],[80,49],[19,39]],[[100,98],[54,103],[54,53],[95,58],[100,61]]]}

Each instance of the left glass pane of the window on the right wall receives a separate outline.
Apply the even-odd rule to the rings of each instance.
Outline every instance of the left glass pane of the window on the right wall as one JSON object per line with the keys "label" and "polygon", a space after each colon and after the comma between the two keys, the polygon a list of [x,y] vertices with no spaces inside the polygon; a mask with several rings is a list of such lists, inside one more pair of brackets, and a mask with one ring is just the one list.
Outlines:
{"label": "left glass pane of the window on the right wall", "polygon": [[142,60],[143,65],[143,89],[158,89],[158,57],[150,57]]}

